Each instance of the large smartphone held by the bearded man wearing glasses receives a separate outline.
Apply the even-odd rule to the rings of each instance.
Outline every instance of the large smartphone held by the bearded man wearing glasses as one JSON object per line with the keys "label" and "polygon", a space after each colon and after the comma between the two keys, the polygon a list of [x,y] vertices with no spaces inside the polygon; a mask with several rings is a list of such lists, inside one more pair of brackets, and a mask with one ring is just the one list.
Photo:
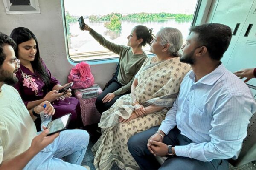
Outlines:
{"label": "large smartphone held by the bearded man wearing glasses", "polygon": [[71,114],[67,113],[64,116],[49,122],[46,127],[47,129],[49,129],[49,134],[47,136],[66,130],[70,122],[70,119],[71,119]]}

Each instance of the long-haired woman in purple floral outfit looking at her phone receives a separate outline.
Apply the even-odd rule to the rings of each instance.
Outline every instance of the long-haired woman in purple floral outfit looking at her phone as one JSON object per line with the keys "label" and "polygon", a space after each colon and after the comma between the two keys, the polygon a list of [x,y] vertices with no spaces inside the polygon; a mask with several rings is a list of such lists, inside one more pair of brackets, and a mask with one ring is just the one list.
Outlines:
{"label": "long-haired woman in purple floral outfit looking at her phone", "polygon": [[71,97],[71,89],[59,93],[65,85],[61,86],[44,64],[35,35],[27,28],[18,27],[12,30],[10,37],[17,44],[15,55],[20,59],[20,68],[16,73],[19,82],[14,87],[19,91],[26,108],[32,109],[47,100],[55,108],[52,119],[71,113],[69,128],[80,127],[81,110],[78,99]]}

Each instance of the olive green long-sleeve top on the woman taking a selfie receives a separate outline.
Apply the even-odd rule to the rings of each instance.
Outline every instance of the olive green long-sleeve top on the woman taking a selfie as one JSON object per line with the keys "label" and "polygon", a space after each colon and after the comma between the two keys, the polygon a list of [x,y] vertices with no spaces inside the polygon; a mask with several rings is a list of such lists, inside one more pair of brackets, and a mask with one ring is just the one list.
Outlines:
{"label": "olive green long-sleeve top on the woman taking a selfie", "polygon": [[119,73],[117,80],[123,87],[113,92],[115,96],[130,92],[134,77],[148,55],[145,54],[144,51],[143,54],[133,54],[131,47],[110,42],[93,29],[91,29],[90,34],[100,45],[119,55]]}

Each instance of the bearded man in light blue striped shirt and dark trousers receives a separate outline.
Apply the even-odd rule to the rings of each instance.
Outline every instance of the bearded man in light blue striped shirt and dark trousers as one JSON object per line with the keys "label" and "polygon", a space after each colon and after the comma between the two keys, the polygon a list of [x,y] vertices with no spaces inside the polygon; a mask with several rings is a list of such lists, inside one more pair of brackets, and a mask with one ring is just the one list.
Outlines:
{"label": "bearded man in light blue striped shirt and dark trousers", "polygon": [[[228,170],[226,159],[237,158],[256,112],[250,89],[220,61],[230,44],[230,27],[210,23],[190,31],[180,61],[192,71],[166,119],[128,141],[143,170]],[[162,166],[157,164],[155,156],[167,155]]]}

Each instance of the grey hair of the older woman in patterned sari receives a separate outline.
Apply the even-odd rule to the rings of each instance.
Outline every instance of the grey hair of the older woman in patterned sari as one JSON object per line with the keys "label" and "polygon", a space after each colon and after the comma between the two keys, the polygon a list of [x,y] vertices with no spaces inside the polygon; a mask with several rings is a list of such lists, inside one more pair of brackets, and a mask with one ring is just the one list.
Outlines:
{"label": "grey hair of the older woman in patterned sari", "polygon": [[172,27],[161,28],[156,37],[160,37],[160,45],[170,45],[168,49],[170,55],[180,57],[179,50],[183,43],[180,30]]}

